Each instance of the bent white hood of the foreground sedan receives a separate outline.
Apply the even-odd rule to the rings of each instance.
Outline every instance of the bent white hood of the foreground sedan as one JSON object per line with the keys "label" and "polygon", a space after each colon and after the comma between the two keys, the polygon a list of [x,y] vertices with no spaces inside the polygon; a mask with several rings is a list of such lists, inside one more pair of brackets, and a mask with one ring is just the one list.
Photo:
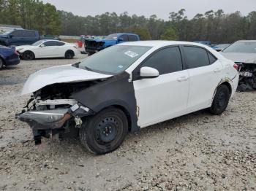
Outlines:
{"label": "bent white hood of the foreground sedan", "polygon": [[78,69],[71,65],[55,66],[31,74],[25,82],[21,94],[34,93],[42,87],[56,83],[83,82],[108,77],[111,77],[111,75]]}

